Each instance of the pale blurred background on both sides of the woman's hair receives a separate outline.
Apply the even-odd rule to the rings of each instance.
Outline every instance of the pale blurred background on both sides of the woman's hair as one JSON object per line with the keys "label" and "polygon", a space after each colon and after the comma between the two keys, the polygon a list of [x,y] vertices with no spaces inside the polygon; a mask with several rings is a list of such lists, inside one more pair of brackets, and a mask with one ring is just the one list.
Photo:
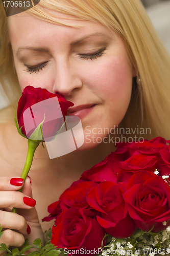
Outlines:
{"label": "pale blurred background on both sides of the woman's hair", "polygon": [[[125,0],[126,1],[126,0]],[[170,53],[170,0],[141,0],[152,23]],[[0,92],[0,109],[8,102]]]}

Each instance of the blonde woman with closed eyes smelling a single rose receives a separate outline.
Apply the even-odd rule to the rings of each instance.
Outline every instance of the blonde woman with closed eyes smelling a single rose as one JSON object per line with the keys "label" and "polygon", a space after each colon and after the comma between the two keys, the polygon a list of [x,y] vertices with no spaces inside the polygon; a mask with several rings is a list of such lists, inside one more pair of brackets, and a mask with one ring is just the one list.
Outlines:
{"label": "blonde woman with closed eyes smelling a single rose", "polygon": [[[5,120],[9,109],[1,113],[0,223],[6,230],[0,242],[21,246],[26,237],[30,241],[42,238],[41,226],[45,230],[53,225],[41,223],[47,205],[84,170],[115,150],[117,140],[111,140],[108,131],[118,125],[139,138],[137,128],[149,128],[145,139],[170,137],[170,59],[137,0],[41,0],[34,8],[8,18],[1,4],[0,16],[0,81],[12,104],[30,84],[59,92],[73,102],[68,113],[77,111],[77,106],[86,113],[75,112],[85,138],[77,151],[49,160],[47,151],[37,148],[30,176],[38,216],[35,202],[26,199],[32,198],[30,178],[22,193],[16,191],[23,186],[18,177],[27,141],[17,134],[12,121]],[[87,108],[91,108],[88,113]],[[121,139],[115,130],[114,139]],[[13,214],[8,207],[22,209]]]}

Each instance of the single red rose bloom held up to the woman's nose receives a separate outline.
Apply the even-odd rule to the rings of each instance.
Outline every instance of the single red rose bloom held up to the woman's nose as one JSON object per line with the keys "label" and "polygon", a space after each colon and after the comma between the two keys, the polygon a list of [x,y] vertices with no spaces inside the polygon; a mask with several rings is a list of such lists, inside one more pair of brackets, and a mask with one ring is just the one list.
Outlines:
{"label": "single red rose bloom held up to the woman's nose", "polygon": [[[43,103],[44,100],[54,98],[54,97],[58,98],[58,100],[55,99],[56,104],[54,104],[54,100],[52,103],[48,102],[48,105]],[[33,126],[33,129],[30,131],[30,133],[26,134],[26,129],[25,129],[26,123],[24,124],[24,122],[23,122],[23,113],[27,109],[31,108],[31,106],[33,106],[36,103],[41,102],[41,101],[42,101],[42,104],[41,104],[40,108],[35,110],[35,111],[38,111],[38,113],[36,115],[36,125]],[[42,129],[43,129],[42,131],[43,131],[44,138],[54,136],[57,132],[56,126],[59,125],[59,120],[61,118],[61,116],[59,116],[59,119],[56,118],[56,115],[57,115],[56,105],[58,102],[60,104],[60,108],[61,108],[63,116],[67,115],[67,109],[69,108],[69,106],[74,105],[72,102],[66,101],[66,99],[59,93],[56,93],[56,94],[50,93],[46,89],[34,88],[32,86],[27,86],[25,89],[23,89],[22,96],[18,102],[18,110],[17,110],[17,118],[18,118],[19,128],[21,126],[23,126],[22,130],[21,130],[22,133],[24,135],[26,135],[27,137],[30,137],[31,134],[36,129],[36,127],[43,121],[45,110],[47,111],[48,106],[50,104],[54,104],[54,112],[51,111],[50,114],[48,113],[48,115],[50,115],[51,120],[46,123],[44,122],[42,125]],[[43,112],[43,110],[44,110],[44,112]],[[48,116],[46,116],[45,118],[47,120]],[[33,123],[33,120],[34,120],[34,116],[33,116],[33,112],[32,112],[32,115],[29,115],[29,114],[27,115],[27,120],[26,120],[27,124],[26,125],[28,125],[28,127],[32,127],[30,125]]]}

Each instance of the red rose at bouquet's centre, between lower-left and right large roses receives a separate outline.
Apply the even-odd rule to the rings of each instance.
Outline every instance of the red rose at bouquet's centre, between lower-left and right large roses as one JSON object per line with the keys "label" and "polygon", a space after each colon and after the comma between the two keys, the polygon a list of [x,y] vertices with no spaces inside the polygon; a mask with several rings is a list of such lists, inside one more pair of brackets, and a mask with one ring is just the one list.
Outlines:
{"label": "red rose at bouquet's centre, between lower-left and right large roses", "polygon": [[92,188],[87,196],[88,204],[101,214],[101,217],[97,216],[99,224],[115,238],[126,238],[136,231],[123,198],[124,186],[124,182],[117,185],[104,181]]}

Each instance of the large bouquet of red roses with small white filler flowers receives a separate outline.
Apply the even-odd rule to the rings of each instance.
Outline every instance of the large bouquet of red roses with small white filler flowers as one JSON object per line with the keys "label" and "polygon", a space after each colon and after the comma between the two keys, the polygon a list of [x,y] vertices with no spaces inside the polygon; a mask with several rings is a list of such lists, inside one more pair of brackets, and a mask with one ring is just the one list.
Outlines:
{"label": "large bouquet of red roses with small white filler flowers", "polygon": [[43,221],[56,219],[52,244],[65,254],[94,255],[103,248],[114,250],[111,255],[170,252],[169,141],[116,146],[48,206]]}

